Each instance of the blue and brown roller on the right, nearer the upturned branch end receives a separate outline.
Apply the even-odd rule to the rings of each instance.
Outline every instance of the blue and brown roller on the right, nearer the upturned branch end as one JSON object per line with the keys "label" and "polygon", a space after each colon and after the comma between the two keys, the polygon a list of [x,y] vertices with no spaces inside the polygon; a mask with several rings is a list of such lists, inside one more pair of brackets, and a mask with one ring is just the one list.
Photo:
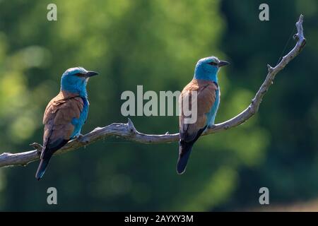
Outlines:
{"label": "blue and brown roller on the right, nearer the upturned branch end", "polygon": [[[220,104],[220,86],[218,85],[218,70],[221,66],[228,65],[227,61],[220,61],[217,57],[200,59],[194,70],[194,78],[184,87],[179,96],[179,105],[184,101],[189,102],[189,111],[196,110],[196,121],[185,121],[187,115],[182,107],[179,116],[179,159],[177,161],[177,173],[182,174],[187,167],[192,146],[208,127],[214,124],[218,105]],[[192,100],[193,91],[196,91],[196,100]],[[197,109],[191,109],[196,101]]]}

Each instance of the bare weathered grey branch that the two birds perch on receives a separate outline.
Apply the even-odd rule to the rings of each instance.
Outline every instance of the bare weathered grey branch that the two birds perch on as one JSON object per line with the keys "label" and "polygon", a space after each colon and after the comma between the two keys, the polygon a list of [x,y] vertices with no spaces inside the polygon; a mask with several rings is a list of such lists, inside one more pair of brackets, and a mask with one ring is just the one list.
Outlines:
{"label": "bare weathered grey branch that the two birds perch on", "polygon": [[[253,98],[251,104],[247,109],[238,114],[236,117],[229,119],[228,121],[224,121],[223,123],[216,124],[212,128],[208,129],[203,135],[208,135],[211,133],[218,133],[220,131],[224,131],[235,126],[238,126],[250,117],[252,117],[259,110],[259,105],[261,104],[261,100],[263,99],[267,90],[273,83],[273,79],[276,74],[281,71],[294,57],[296,57],[302,49],[305,47],[306,40],[303,35],[302,30],[302,20],[303,16],[300,15],[298,22],[296,23],[296,28],[298,33],[294,35],[294,39],[297,40],[295,47],[287,54],[283,59],[275,66],[271,67],[269,64],[268,74],[264,83],[259,88],[259,91]],[[153,135],[153,134],[145,134],[140,133],[134,127],[134,124],[130,119],[128,119],[127,124],[122,123],[113,123],[109,126],[98,127],[87,133],[85,136],[81,138],[74,139],[69,141],[63,148],[57,151],[56,154],[66,153],[70,150],[76,150],[77,148],[81,148],[83,146],[89,145],[95,141],[99,141],[100,139],[107,138],[109,136],[118,136],[121,138],[125,138],[129,141],[139,142],[139,143],[170,143],[179,140],[179,133],[175,134],[163,134],[163,135]],[[39,159],[40,151],[42,150],[42,145],[38,143],[31,144],[35,150],[30,150],[23,153],[2,153],[0,155],[0,167],[12,166],[12,165],[27,165],[29,162],[33,162]]]}

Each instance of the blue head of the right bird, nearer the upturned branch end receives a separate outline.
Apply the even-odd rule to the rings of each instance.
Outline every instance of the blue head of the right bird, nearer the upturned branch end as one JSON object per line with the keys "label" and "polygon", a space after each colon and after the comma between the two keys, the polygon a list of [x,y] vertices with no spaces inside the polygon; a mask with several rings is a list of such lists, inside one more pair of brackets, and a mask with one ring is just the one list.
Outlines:
{"label": "blue head of the right bird, nearer the upturned branch end", "polygon": [[217,73],[221,66],[228,65],[228,61],[220,61],[218,57],[206,57],[196,63],[194,78],[217,81]]}

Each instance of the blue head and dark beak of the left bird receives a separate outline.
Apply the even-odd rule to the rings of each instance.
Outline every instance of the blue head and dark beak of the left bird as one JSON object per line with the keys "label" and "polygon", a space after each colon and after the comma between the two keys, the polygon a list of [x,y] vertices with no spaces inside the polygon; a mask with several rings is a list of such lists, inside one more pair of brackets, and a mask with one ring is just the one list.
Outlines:
{"label": "blue head and dark beak of the left bird", "polygon": [[82,67],[67,69],[61,76],[61,90],[85,97],[88,79],[96,75],[98,75],[97,72],[87,71]]}

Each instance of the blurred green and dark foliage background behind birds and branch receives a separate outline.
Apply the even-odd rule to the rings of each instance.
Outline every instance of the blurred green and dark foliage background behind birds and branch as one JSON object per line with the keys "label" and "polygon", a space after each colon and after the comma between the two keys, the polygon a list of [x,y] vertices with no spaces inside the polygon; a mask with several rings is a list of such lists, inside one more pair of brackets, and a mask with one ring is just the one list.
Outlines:
{"label": "blurred green and dark foliage background behind birds and branch", "polygon": [[[57,21],[47,20],[49,3],[57,4]],[[216,55],[231,62],[219,76],[220,122],[249,105],[300,13],[307,46],[278,74],[255,117],[196,143],[182,176],[175,172],[177,143],[107,138],[53,157],[40,182],[38,162],[1,168],[0,210],[249,210],[261,208],[262,186],[270,207],[316,201],[318,2],[266,1],[264,22],[261,3],[1,0],[0,153],[42,142],[42,114],[70,67],[100,72],[88,84],[87,133],[127,121],[124,90],[182,90],[196,61]],[[145,133],[178,131],[177,117],[131,119]],[[47,205],[49,186],[57,188],[58,205]]]}

